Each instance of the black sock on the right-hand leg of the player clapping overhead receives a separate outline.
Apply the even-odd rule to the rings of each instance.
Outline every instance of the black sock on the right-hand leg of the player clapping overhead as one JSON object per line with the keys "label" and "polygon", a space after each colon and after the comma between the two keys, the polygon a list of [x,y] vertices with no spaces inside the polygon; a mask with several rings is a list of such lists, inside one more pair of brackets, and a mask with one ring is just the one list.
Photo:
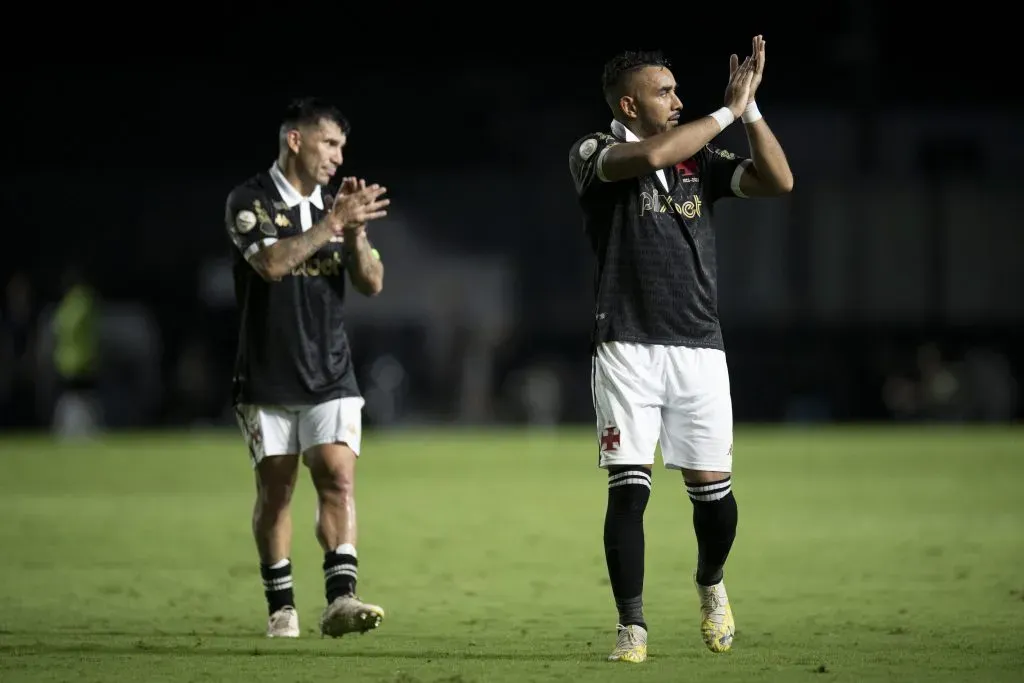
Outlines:
{"label": "black sock on the right-hand leg of the player clapping overhead", "polygon": [[722,581],[725,560],[736,539],[738,511],[732,495],[732,477],[709,483],[687,483],[686,493],[693,503],[697,583],[714,586]]}

